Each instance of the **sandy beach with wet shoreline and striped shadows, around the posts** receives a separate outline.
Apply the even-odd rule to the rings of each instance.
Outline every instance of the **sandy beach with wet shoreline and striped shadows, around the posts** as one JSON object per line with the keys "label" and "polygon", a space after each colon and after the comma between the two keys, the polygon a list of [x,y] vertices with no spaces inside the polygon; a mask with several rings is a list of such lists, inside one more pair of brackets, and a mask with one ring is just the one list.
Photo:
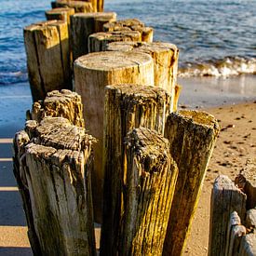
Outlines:
{"label": "sandy beach with wet shoreline and striped shadows, around the posts", "polygon": [[[234,180],[256,155],[256,77],[182,78],[180,108],[203,109],[214,115],[222,131],[207,171],[185,255],[207,255],[210,192],[219,174]],[[0,254],[32,255],[20,195],[12,174],[11,142],[24,126],[31,107],[26,84],[0,87]]]}

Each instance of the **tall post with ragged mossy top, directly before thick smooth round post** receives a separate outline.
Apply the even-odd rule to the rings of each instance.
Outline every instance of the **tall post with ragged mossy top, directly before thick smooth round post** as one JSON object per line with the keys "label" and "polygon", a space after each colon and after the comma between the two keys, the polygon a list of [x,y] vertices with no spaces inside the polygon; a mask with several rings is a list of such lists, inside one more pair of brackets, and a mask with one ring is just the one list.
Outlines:
{"label": "tall post with ragged mossy top, directly before thick smooth round post", "polygon": [[[164,132],[170,98],[161,88],[139,85],[106,87],[103,140],[103,219],[101,253],[115,255],[122,215],[124,140],[129,130],[145,127]],[[114,249],[115,248],[115,249]]]}

